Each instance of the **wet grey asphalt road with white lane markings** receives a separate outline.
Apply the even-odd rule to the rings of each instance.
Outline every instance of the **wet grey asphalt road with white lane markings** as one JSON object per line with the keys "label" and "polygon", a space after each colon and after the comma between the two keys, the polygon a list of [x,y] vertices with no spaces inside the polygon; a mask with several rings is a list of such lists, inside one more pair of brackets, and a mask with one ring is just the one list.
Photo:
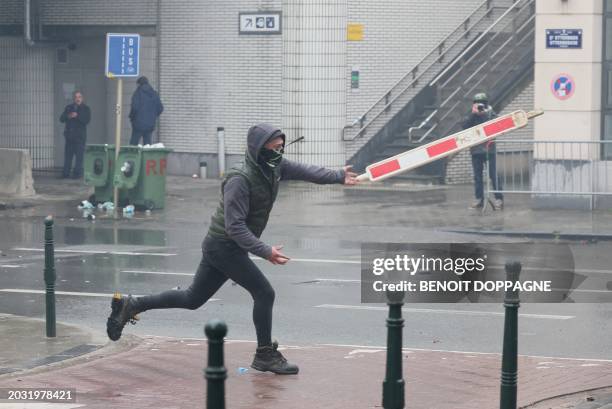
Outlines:
{"label": "wet grey asphalt road with white lane markings", "polygon": [[[104,332],[116,289],[148,294],[187,287],[218,200],[216,186],[194,183],[186,180],[184,189],[171,191],[166,211],[130,220],[98,217],[92,223],[74,203],[62,202],[0,213],[0,313],[44,316],[42,226],[49,213],[56,220],[57,291],[68,293],[57,297],[58,320]],[[360,303],[364,241],[504,240],[442,231],[479,216],[465,211],[439,218],[432,212],[445,215],[452,207],[439,201],[439,193],[429,194],[430,203],[405,203],[393,195],[356,198],[337,187],[306,186],[284,188],[263,237],[284,244],[293,260],[286,266],[256,261],[276,290],[273,333],[285,344],[385,344],[385,307]],[[609,288],[612,244],[572,243],[571,249],[587,278],[582,295],[596,300],[597,293],[588,291]],[[254,340],[251,308],[249,294],[228,282],[197,311],[149,311],[126,331],[201,338],[204,323],[219,317],[230,338]],[[612,304],[524,304],[520,313],[520,353],[612,359]],[[412,304],[404,315],[407,347],[501,351],[502,305]]]}

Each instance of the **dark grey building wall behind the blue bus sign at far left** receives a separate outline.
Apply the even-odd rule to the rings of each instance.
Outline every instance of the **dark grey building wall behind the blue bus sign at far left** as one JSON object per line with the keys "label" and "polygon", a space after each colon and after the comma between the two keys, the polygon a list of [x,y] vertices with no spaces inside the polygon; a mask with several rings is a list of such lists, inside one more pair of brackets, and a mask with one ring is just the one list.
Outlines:
{"label": "dark grey building wall behind the blue bus sign at far left", "polygon": [[[99,25],[136,29],[157,22],[157,0],[131,2],[49,0],[41,2],[41,20],[46,27],[95,27]],[[0,24],[23,23],[23,0],[3,0]],[[116,81],[103,76],[104,28],[88,37],[75,36],[68,62],[56,61],[62,44],[27,47],[21,33],[0,37],[0,147],[27,148],[34,168],[51,168],[63,162],[63,125],[58,117],[80,89],[92,109],[88,127],[91,143],[114,143]],[[142,37],[141,73],[157,84],[157,42]],[[131,133],[127,113],[135,80],[124,80],[123,143]],[[155,138],[155,137],[154,137]]]}

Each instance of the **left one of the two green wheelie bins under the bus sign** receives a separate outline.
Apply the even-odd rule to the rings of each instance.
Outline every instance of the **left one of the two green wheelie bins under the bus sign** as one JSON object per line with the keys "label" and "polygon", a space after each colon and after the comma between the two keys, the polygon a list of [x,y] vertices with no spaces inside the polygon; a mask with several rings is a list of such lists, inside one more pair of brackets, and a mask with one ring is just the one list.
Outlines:
{"label": "left one of the two green wheelie bins under the bus sign", "polygon": [[94,187],[89,197],[92,204],[113,201],[115,145],[87,145],[85,148],[85,184]]}

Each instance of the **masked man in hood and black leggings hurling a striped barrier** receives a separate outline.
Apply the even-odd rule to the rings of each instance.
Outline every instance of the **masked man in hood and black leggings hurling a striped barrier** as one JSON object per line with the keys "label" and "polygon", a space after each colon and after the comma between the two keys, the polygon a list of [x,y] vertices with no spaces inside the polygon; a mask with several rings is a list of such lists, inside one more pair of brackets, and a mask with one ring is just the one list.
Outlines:
{"label": "masked man in hood and black leggings hurling a striped barrier", "polygon": [[272,264],[286,264],[290,260],[281,252],[282,246],[270,246],[260,239],[281,180],[354,185],[357,175],[350,171],[350,166],[330,170],[283,158],[285,135],[271,125],[251,127],[247,144],[244,162],[230,170],[222,182],[221,201],[202,243],[202,261],[191,286],[144,297],[116,293],[107,320],[111,340],[121,337],[123,327],[135,314],[160,308],[195,310],[229,279],[253,297],[257,349],[251,367],[277,374],[298,372],[297,365],[288,363],[277,350],[278,344],[272,342],[274,289],[249,253]]}

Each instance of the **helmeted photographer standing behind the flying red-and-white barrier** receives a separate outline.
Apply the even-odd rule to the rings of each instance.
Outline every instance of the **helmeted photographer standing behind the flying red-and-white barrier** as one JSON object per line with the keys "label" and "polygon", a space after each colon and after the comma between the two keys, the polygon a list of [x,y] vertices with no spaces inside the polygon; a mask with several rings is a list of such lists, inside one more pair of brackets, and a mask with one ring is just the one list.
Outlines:
{"label": "helmeted photographer standing behind the flying red-and-white barrier", "polygon": [[[480,92],[474,95],[474,103],[472,104],[472,111],[463,121],[463,129],[471,128],[473,126],[482,124],[496,118],[497,114],[493,111],[491,105],[489,105],[489,98],[484,92]],[[472,155],[472,170],[474,172],[474,196],[476,200],[470,206],[471,209],[480,209],[484,205],[484,187],[482,180],[482,171],[484,164],[488,161],[489,163],[489,177],[494,190],[501,190],[501,181],[497,177],[496,169],[496,151],[495,142],[488,141],[481,143],[480,145],[473,146],[470,148],[470,154]],[[495,193],[495,201],[493,207],[497,210],[502,209],[504,206],[504,197],[501,193]]]}

